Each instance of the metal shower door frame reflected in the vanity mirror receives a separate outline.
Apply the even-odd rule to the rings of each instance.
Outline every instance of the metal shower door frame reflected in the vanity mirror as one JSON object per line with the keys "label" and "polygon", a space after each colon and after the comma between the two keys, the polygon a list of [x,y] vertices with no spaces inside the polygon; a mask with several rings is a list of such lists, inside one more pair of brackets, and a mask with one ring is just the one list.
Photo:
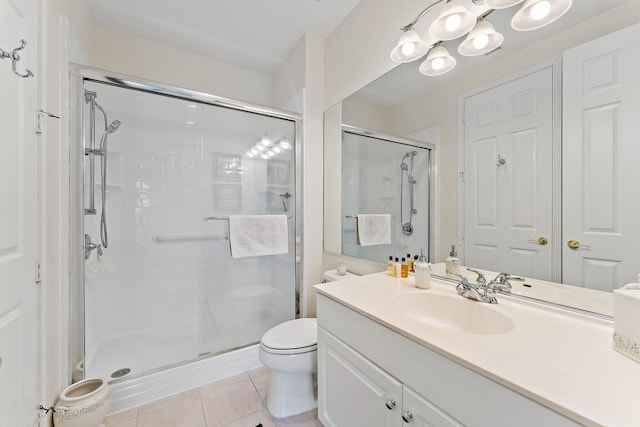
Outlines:
{"label": "metal shower door frame reflected in the vanity mirror", "polygon": [[[352,133],[354,135],[362,135],[362,136],[366,136],[368,138],[375,138],[375,139],[379,139],[382,141],[387,141],[387,142],[393,142],[396,144],[402,144],[402,145],[407,145],[410,147],[417,147],[417,148],[423,148],[426,150],[429,150],[429,163],[428,163],[428,179],[429,179],[429,198],[427,200],[427,206],[428,206],[428,212],[429,212],[429,219],[427,221],[427,258],[428,261],[433,263],[434,259],[436,259],[436,254],[434,253],[434,250],[436,248],[436,242],[437,242],[437,237],[436,236],[436,230],[438,230],[438,218],[437,218],[437,211],[435,209],[435,202],[437,200],[437,195],[436,195],[436,191],[438,186],[436,185],[436,181],[437,181],[437,174],[436,174],[436,145],[431,143],[431,142],[425,142],[425,141],[418,141],[415,139],[409,139],[409,138],[403,138],[400,136],[392,136],[392,135],[387,135],[387,134],[383,134],[383,133],[378,133],[378,132],[373,132],[367,129],[363,129],[363,128],[359,128],[356,126],[351,126],[351,125],[345,125],[342,124],[340,126],[340,150],[342,150],[342,139],[344,138],[344,134],[346,133]],[[342,208],[341,208],[342,209]],[[342,213],[340,213],[340,216],[342,217]],[[342,224],[342,218],[340,218],[340,224]],[[343,251],[343,231],[342,231],[342,227],[340,230],[340,251]]]}

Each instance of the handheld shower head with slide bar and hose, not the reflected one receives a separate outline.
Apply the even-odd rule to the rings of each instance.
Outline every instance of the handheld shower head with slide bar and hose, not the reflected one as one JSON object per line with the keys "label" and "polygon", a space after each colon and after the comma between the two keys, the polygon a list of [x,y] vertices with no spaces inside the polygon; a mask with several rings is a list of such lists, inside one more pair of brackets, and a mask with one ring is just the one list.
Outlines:
{"label": "handheld shower head with slide bar and hose, not the reflected one", "polygon": [[[85,102],[89,104],[89,141],[88,147],[85,148],[85,155],[89,156],[89,207],[85,209],[85,215],[95,215],[95,156],[100,156],[100,243],[102,248],[109,246],[109,237],[107,232],[107,166],[108,156],[107,147],[109,135],[118,130],[122,124],[119,120],[109,123],[107,113],[104,108],[96,101],[97,94],[92,91],[85,91]],[[100,138],[100,144],[96,146],[96,108],[100,110],[104,117],[104,131]],[[89,243],[91,239],[89,237]],[[93,245],[93,244],[92,244]],[[98,251],[101,249],[98,245]],[[94,246],[96,247],[96,246]],[[92,248],[93,249],[93,248]],[[85,248],[86,250],[86,248]],[[91,249],[90,249],[91,250]]]}

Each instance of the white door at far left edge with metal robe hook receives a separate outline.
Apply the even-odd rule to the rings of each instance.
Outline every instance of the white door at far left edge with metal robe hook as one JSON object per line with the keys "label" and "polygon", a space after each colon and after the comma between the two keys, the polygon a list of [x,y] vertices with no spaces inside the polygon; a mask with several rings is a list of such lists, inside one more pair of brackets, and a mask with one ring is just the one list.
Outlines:
{"label": "white door at far left edge with metal robe hook", "polygon": [[[0,0],[0,48],[25,39],[17,71],[36,71],[35,0]],[[32,426],[36,371],[36,79],[0,60],[0,426]]]}

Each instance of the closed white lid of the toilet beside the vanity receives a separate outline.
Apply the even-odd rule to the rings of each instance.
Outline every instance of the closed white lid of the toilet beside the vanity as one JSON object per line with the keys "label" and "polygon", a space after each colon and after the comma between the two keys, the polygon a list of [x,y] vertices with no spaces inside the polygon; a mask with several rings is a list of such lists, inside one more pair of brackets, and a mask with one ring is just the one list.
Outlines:
{"label": "closed white lid of the toilet beside the vanity", "polygon": [[262,345],[274,350],[308,349],[318,343],[316,319],[295,319],[269,329],[262,336]]}

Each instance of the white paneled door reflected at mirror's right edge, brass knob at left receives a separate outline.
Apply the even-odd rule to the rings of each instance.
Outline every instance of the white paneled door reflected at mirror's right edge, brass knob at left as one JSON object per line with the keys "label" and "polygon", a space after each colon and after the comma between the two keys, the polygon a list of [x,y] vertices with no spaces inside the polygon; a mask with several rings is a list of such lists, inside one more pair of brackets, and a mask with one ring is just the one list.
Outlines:
{"label": "white paneled door reflected at mirror's right edge, brass knob at left", "polygon": [[[640,273],[640,25],[563,55],[563,282]],[[570,247],[571,246],[571,247]]]}

